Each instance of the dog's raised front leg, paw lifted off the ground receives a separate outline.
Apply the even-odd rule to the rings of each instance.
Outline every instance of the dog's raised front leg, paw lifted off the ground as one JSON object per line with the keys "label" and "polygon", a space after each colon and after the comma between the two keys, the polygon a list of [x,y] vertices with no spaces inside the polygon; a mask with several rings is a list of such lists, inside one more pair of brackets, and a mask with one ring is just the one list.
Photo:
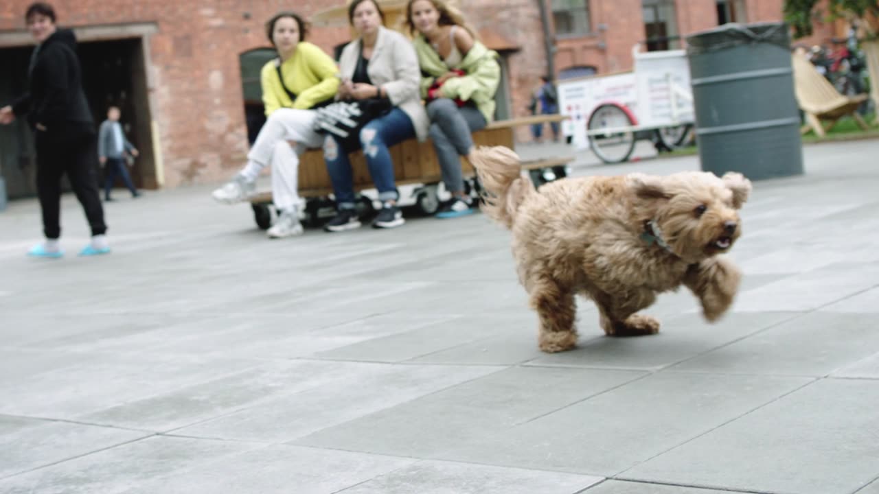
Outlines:
{"label": "dog's raised front leg, paw lifted off the ground", "polygon": [[708,321],[716,321],[730,309],[742,280],[742,272],[727,258],[708,258],[690,266],[684,285],[693,291]]}

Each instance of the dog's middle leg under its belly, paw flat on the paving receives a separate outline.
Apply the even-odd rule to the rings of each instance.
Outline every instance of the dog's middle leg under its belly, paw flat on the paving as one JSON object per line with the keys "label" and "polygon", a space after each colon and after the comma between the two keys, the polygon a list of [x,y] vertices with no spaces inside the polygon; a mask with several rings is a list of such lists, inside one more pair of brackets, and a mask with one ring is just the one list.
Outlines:
{"label": "dog's middle leg under its belly, paw flat on the paving", "polygon": [[642,336],[659,332],[654,317],[636,314],[656,300],[652,291],[643,290],[627,297],[614,298],[606,293],[590,294],[599,308],[601,329],[607,336]]}

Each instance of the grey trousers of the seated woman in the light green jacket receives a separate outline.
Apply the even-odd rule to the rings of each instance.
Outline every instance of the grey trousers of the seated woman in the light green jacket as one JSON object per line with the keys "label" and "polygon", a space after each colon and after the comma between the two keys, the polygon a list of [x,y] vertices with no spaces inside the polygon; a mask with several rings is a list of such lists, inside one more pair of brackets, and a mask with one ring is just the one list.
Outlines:
{"label": "grey trousers of the seated woman in the light green jacket", "polygon": [[461,157],[473,149],[475,132],[487,124],[483,114],[474,105],[455,105],[448,98],[434,99],[427,105],[427,116],[431,119],[430,136],[433,149],[437,153],[442,181],[450,193],[464,191],[464,178],[461,173]]}

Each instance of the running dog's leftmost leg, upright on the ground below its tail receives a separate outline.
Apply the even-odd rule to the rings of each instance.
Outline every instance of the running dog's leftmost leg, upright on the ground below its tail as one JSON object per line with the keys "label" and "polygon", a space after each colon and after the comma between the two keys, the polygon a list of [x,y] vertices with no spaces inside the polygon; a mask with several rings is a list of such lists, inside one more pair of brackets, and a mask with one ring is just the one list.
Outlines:
{"label": "running dog's leftmost leg, upright on the ground below its tail", "polygon": [[555,280],[541,278],[529,290],[531,307],[540,317],[538,344],[543,352],[564,352],[577,345],[574,294]]}

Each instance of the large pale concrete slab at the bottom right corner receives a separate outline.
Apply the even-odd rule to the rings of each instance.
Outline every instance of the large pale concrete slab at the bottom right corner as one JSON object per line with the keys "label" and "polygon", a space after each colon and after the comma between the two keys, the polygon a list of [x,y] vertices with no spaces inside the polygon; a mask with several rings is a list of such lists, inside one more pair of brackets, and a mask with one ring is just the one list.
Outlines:
{"label": "large pale concrete slab at the bottom right corner", "polygon": [[879,469],[875,403],[879,381],[817,381],[621,477],[797,494],[854,492]]}

